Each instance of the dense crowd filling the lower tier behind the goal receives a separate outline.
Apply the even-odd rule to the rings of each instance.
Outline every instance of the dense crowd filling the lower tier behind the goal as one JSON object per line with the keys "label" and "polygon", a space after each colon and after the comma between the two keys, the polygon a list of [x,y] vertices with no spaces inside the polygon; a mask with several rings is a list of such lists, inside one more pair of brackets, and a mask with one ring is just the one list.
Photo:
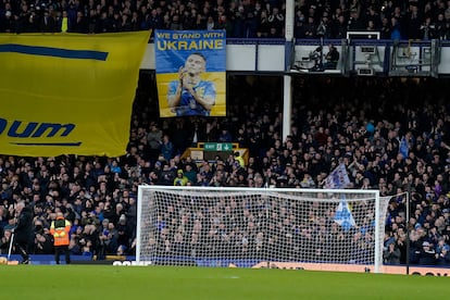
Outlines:
{"label": "dense crowd filling the lower tier behind the goal", "polygon": [[[53,252],[49,225],[62,212],[73,224],[71,253],[101,259],[135,253],[140,184],[322,188],[326,176],[343,163],[349,188],[374,188],[382,196],[397,196],[389,202],[385,263],[407,262],[409,234],[411,263],[450,265],[448,80],[296,77],[292,128],[285,140],[280,136],[280,78],[229,75],[227,117],[208,118],[159,118],[149,80],[151,74],[141,75],[125,155],[0,157],[1,253],[8,253],[20,200],[33,208],[32,253]],[[249,160],[245,163],[230,154],[195,162],[182,157],[197,141],[239,142],[249,149]],[[410,192],[409,225],[402,192]],[[172,243],[182,240],[205,247],[204,241],[221,240],[223,230],[232,233],[226,205],[204,210],[201,220],[198,213],[170,210],[167,207],[159,215],[159,222],[166,225],[154,225],[160,235],[153,242],[160,250],[168,249],[171,255],[176,253]],[[272,224],[285,233],[284,242],[311,234],[308,228],[298,230],[297,213],[282,207],[272,213],[277,217]],[[228,221],[213,222],[217,217]],[[274,241],[274,237],[259,235],[252,220],[258,218],[255,212],[243,209],[233,217],[245,224],[243,236],[234,246],[240,248],[233,253]],[[184,234],[178,232],[182,225]],[[365,233],[360,226],[348,232],[361,247],[371,238]]]}

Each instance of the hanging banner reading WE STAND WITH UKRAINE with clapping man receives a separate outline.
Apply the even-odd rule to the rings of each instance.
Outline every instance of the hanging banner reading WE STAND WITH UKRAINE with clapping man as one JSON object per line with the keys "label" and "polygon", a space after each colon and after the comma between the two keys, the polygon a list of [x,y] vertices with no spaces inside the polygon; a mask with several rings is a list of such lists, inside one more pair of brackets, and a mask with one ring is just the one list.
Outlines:
{"label": "hanging banner reading WE STAND WITH UKRAINE with clapping man", "polygon": [[224,30],[157,30],[160,115],[226,115]]}

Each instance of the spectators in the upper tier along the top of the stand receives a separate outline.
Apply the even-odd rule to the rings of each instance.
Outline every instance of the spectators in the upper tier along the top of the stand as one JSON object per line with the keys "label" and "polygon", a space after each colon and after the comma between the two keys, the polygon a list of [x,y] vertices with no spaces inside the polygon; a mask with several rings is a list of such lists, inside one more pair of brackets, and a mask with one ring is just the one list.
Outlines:
{"label": "spectators in the upper tier along the top of the stand", "polygon": [[[2,33],[116,33],[223,29],[230,38],[284,37],[285,1],[7,0]],[[296,38],[346,38],[348,30],[382,39],[450,38],[449,1],[297,0]]]}

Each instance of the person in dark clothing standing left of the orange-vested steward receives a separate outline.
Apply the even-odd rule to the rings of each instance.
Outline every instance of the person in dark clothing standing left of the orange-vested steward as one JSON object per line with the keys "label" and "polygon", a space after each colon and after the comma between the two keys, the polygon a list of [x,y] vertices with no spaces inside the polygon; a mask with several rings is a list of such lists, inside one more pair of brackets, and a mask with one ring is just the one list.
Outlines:
{"label": "person in dark clothing standing left of the orange-vested steward", "polygon": [[32,208],[26,207],[25,202],[21,201],[15,208],[16,225],[13,229],[14,248],[22,255],[22,263],[29,263],[28,249],[32,241],[33,234],[33,213]]}

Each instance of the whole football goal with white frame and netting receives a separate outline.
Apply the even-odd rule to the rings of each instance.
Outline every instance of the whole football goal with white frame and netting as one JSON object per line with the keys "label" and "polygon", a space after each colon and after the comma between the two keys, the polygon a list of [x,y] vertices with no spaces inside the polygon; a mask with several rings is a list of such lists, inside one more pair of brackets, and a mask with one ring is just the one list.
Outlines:
{"label": "whole football goal with white frame and netting", "polygon": [[380,272],[378,190],[139,186],[137,263]]}

